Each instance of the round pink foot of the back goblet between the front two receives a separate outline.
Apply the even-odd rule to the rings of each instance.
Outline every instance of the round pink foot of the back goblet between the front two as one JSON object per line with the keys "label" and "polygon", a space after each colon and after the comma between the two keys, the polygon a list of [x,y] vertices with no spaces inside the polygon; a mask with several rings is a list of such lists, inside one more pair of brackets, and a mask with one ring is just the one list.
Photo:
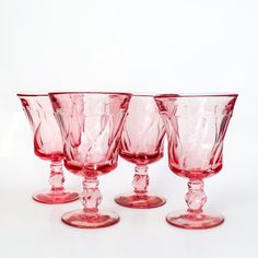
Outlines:
{"label": "round pink foot of the back goblet between the front two", "polygon": [[115,201],[124,207],[136,208],[136,209],[150,209],[157,208],[166,203],[166,200],[162,197],[157,197],[151,194],[137,195],[128,194],[118,196]]}

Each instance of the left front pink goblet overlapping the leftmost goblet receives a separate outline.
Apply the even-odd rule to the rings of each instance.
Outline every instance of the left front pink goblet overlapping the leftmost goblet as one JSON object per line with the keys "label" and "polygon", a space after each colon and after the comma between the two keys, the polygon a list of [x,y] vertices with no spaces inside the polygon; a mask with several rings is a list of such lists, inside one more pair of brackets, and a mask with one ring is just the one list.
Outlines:
{"label": "left front pink goblet overlapping the leftmost goblet", "polygon": [[82,176],[83,210],[67,212],[62,221],[95,228],[119,221],[115,212],[98,211],[102,195],[97,176],[117,166],[118,144],[130,101],[126,93],[50,93],[64,142],[64,165]]}

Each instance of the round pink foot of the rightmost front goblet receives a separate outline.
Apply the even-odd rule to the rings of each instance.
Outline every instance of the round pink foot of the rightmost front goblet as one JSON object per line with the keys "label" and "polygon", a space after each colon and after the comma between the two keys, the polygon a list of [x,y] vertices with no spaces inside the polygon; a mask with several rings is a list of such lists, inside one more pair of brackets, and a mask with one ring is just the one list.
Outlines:
{"label": "round pink foot of the rightmost front goblet", "polygon": [[178,211],[168,213],[166,221],[174,226],[186,230],[206,230],[221,225],[224,218],[213,212]]}

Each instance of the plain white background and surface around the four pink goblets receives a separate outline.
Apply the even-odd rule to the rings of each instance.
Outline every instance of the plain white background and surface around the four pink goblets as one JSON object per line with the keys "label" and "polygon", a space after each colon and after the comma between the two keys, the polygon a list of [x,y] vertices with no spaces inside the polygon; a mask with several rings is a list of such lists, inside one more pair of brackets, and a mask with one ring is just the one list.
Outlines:
{"label": "plain white background and surface around the four pink goblets", "polygon": [[[258,257],[258,2],[256,0],[0,0],[0,257]],[[168,225],[184,209],[186,180],[166,157],[150,166],[159,209],[130,210],[133,165],[119,160],[101,178],[103,209],[119,224],[102,230],[63,225],[80,202],[44,206],[31,194],[47,186],[48,164],[33,154],[16,92],[236,92],[223,171],[206,180],[207,209],[225,223],[207,231]],[[81,189],[67,173],[67,186]]]}

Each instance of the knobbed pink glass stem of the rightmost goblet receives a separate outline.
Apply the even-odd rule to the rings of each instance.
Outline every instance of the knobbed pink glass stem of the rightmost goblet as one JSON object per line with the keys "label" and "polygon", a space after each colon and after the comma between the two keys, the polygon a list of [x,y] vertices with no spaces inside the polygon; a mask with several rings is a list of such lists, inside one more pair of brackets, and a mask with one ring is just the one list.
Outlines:
{"label": "knobbed pink glass stem of the rightmost goblet", "polygon": [[202,180],[189,180],[188,192],[186,194],[186,203],[189,212],[200,213],[207,201],[207,196],[203,191]]}

